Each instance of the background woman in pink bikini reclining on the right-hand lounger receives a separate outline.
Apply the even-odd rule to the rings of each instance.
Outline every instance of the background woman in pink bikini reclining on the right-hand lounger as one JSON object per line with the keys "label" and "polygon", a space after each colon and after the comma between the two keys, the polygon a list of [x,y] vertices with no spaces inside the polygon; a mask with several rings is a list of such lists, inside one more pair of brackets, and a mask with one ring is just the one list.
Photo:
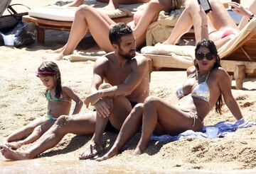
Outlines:
{"label": "background woman in pink bikini reclining on the right-hand lounger", "polygon": [[196,42],[198,42],[201,38],[201,27],[206,27],[209,31],[210,40],[213,40],[218,49],[224,45],[225,42],[228,42],[228,40],[238,34],[250,20],[250,17],[256,13],[256,1],[252,1],[248,10],[240,6],[240,4],[230,2],[229,5],[234,7],[233,11],[244,16],[240,25],[237,26],[221,1],[209,0],[209,2],[212,11],[207,14],[208,23],[201,23],[201,16],[199,16],[198,13],[198,2],[196,0],[188,1],[186,8],[178,18],[173,32],[163,44],[175,45],[179,38],[187,33],[192,26],[195,30]]}

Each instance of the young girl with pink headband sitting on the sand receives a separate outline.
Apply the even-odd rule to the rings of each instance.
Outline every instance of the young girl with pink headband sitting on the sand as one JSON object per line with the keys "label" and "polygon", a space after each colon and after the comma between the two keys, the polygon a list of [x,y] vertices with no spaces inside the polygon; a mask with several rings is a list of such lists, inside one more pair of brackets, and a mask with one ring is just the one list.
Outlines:
{"label": "young girl with pink headband sitting on the sand", "polygon": [[[68,86],[61,85],[60,70],[57,64],[54,62],[43,62],[39,66],[36,76],[46,86],[48,111],[42,117],[38,117],[4,139],[4,144],[12,149],[18,149],[24,144],[36,141],[44,132],[50,129],[60,115],[69,115],[72,100],[75,101],[73,115],[78,114],[82,108],[82,100],[78,94]],[[23,139],[24,137],[26,139]],[[9,143],[11,141],[16,142]]]}

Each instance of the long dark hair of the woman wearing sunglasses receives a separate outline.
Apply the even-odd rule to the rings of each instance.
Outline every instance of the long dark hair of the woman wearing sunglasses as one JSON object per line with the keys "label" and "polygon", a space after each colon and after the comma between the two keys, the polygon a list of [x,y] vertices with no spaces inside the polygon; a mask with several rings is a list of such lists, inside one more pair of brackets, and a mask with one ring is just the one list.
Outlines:
{"label": "long dark hair of the woman wearing sunglasses", "polygon": [[[204,40],[201,40],[200,42],[198,42],[198,44],[196,45],[195,54],[200,47],[207,47],[210,50],[210,52],[214,55],[214,57],[216,57],[216,62],[213,64],[213,69],[221,67],[220,66],[220,57],[218,56],[217,48],[212,40],[204,39]],[[194,65],[196,66],[196,70],[198,71],[199,67],[198,67],[198,64],[196,64],[196,59],[194,61]],[[222,106],[223,106],[223,100],[222,100],[222,95],[220,93],[220,96],[218,97],[218,100],[215,103],[215,111],[221,114]]]}

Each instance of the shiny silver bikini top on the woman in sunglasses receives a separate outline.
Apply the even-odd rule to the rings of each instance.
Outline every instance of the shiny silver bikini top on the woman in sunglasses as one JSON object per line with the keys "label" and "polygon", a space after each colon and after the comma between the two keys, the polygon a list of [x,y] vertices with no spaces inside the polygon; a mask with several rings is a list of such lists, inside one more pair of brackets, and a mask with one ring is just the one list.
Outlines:
{"label": "shiny silver bikini top on the woman in sunglasses", "polygon": [[[198,83],[191,91],[191,96],[194,98],[199,98],[201,100],[206,101],[207,103],[210,102],[210,90],[208,84],[206,83],[210,72],[206,76],[206,80],[202,83]],[[196,75],[197,76],[197,75]],[[183,98],[185,94],[183,93],[183,86],[179,87],[176,91],[176,95],[178,98]]]}

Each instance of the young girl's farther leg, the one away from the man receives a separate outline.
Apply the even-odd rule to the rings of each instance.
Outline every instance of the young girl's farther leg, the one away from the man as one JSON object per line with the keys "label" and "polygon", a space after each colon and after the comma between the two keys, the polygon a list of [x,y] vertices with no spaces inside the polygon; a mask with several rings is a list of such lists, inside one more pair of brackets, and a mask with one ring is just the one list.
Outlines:
{"label": "young girl's farther leg, the one away from the man", "polygon": [[40,124],[43,124],[43,122],[46,122],[46,117],[38,117],[36,120],[33,120],[32,122],[26,124],[26,126],[22,127],[21,129],[16,130],[16,132],[10,134],[8,137],[4,139],[4,143],[8,144],[11,141],[16,141],[23,139],[24,137],[28,136],[33,132],[33,129],[37,127]]}

